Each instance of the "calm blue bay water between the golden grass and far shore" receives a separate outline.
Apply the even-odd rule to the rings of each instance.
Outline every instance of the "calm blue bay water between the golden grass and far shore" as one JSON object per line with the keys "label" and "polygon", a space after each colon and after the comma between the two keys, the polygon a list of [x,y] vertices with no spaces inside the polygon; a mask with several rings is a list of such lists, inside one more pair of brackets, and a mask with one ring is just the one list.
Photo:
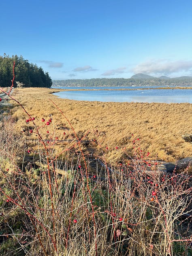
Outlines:
{"label": "calm blue bay water between the golden grass and far shore", "polygon": [[[58,88],[58,87],[57,87]],[[88,100],[101,102],[159,102],[159,103],[192,103],[191,89],[133,89],[133,87],[60,87],[62,89],[78,89],[57,92],[55,95],[70,100]],[[134,89],[147,87],[134,87]],[[158,88],[158,87],[157,87]],[[90,89],[90,90],[81,90]],[[107,89],[107,90],[105,90]]]}

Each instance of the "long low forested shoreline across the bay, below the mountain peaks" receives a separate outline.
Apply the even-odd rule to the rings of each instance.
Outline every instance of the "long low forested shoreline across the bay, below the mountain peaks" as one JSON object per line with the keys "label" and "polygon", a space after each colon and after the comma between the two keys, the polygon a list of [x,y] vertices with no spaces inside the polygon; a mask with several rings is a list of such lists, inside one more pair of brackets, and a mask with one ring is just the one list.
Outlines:
{"label": "long low forested shoreline across the bay, below the mountain peaks", "polygon": [[192,86],[192,77],[177,77],[177,78],[93,78],[93,79],[68,79],[68,80],[53,80],[53,86]]}

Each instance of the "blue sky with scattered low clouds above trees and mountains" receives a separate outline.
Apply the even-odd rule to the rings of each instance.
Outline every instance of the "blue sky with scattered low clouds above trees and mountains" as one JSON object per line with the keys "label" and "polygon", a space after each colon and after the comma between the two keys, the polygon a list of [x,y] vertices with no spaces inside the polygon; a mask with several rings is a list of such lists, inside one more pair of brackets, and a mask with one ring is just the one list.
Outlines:
{"label": "blue sky with scattered low clouds above trees and mountains", "polygon": [[192,76],[191,0],[0,1],[0,55],[52,79]]}

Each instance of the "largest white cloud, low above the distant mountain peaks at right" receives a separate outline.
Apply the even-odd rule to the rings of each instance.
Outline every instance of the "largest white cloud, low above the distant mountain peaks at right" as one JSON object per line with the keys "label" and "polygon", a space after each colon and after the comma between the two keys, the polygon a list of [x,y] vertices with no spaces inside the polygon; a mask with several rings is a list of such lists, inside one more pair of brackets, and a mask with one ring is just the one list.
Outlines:
{"label": "largest white cloud, low above the distant mountain peaks at right", "polygon": [[185,60],[147,60],[132,68],[132,72],[156,75],[171,75],[172,73],[191,72],[192,61]]}

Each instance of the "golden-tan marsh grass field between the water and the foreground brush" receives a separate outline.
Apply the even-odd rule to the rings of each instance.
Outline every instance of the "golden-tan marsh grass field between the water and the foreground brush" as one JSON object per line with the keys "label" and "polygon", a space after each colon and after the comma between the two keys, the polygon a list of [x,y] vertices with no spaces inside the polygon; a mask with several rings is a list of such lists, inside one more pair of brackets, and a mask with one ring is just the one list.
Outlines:
{"label": "golden-tan marsh grass field between the water and the foreground brush", "polygon": [[[139,147],[144,152],[149,151],[151,159],[174,162],[192,156],[192,144],[181,138],[183,134],[192,133],[192,104],[89,102],[62,99],[52,94],[61,90],[18,88],[13,91],[12,96],[31,117],[35,117],[36,126],[42,126],[42,118],[47,122],[51,117],[51,125],[40,129],[44,138],[58,137],[61,141],[74,137],[67,120],[55,107],[57,105],[77,136],[81,138],[87,134],[86,140],[95,139],[94,154],[101,154],[102,148],[107,161],[119,161],[131,155],[133,138],[139,138]],[[18,132],[29,126],[26,124],[28,115],[15,103],[12,113],[17,119]],[[58,150],[62,148],[61,145]]]}

